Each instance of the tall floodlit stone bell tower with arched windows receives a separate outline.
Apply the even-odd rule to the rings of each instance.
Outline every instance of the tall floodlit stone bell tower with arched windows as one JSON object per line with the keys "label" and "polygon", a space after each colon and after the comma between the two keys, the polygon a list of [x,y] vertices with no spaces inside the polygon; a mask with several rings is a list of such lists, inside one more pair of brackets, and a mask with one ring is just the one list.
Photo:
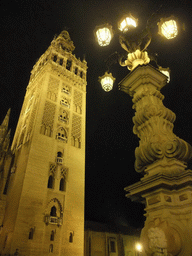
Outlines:
{"label": "tall floodlit stone bell tower with arched windows", "polygon": [[87,63],[74,49],[62,31],[31,71],[11,147],[2,254],[83,255]]}

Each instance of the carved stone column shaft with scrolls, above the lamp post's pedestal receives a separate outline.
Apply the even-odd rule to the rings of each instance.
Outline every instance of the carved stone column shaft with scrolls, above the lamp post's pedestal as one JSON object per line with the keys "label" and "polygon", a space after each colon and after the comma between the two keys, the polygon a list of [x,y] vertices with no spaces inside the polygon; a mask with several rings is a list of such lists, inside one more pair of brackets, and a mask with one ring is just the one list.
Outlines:
{"label": "carved stone column shaft with scrolls, above the lamp post's pedestal", "polygon": [[192,157],[192,147],[173,133],[175,114],[163,105],[164,96],[160,93],[167,79],[163,76],[150,65],[143,65],[120,83],[121,89],[133,97],[136,111],[133,132],[140,139],[135,150],[137,172],[162,161],[169,166],[170,160],[177,161],[184,170]]}

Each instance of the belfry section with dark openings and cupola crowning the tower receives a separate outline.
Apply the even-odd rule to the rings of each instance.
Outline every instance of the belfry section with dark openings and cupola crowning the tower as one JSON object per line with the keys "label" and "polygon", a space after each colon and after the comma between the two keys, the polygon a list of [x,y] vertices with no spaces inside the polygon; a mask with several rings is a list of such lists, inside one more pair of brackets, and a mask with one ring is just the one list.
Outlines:
{"label": "belfry section with dark openings and cupola crowning the tower", "polygon": [[76,58],[74,50],[73,41],[66,30],[55,36],[48,49],[33,66],[27,89],[33,87],[39,75],[42,76],[48,71],[65,79],[72,79],[79,88],[86,91],[87,62],[85,59]]}

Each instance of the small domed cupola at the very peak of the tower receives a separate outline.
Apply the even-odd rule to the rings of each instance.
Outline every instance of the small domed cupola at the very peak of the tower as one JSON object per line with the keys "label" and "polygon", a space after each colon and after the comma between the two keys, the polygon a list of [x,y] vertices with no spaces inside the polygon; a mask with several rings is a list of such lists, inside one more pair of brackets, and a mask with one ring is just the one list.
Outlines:
{"label": "small domed cupola at the very peak of the tower", "polygon": [[71,40],[70,35],[66,30],[63,30],[58,37],[54,38],[51,42],[51,45],[57,51],[64,50],[67,52],[73,52],[75,50],[73,41]]}

